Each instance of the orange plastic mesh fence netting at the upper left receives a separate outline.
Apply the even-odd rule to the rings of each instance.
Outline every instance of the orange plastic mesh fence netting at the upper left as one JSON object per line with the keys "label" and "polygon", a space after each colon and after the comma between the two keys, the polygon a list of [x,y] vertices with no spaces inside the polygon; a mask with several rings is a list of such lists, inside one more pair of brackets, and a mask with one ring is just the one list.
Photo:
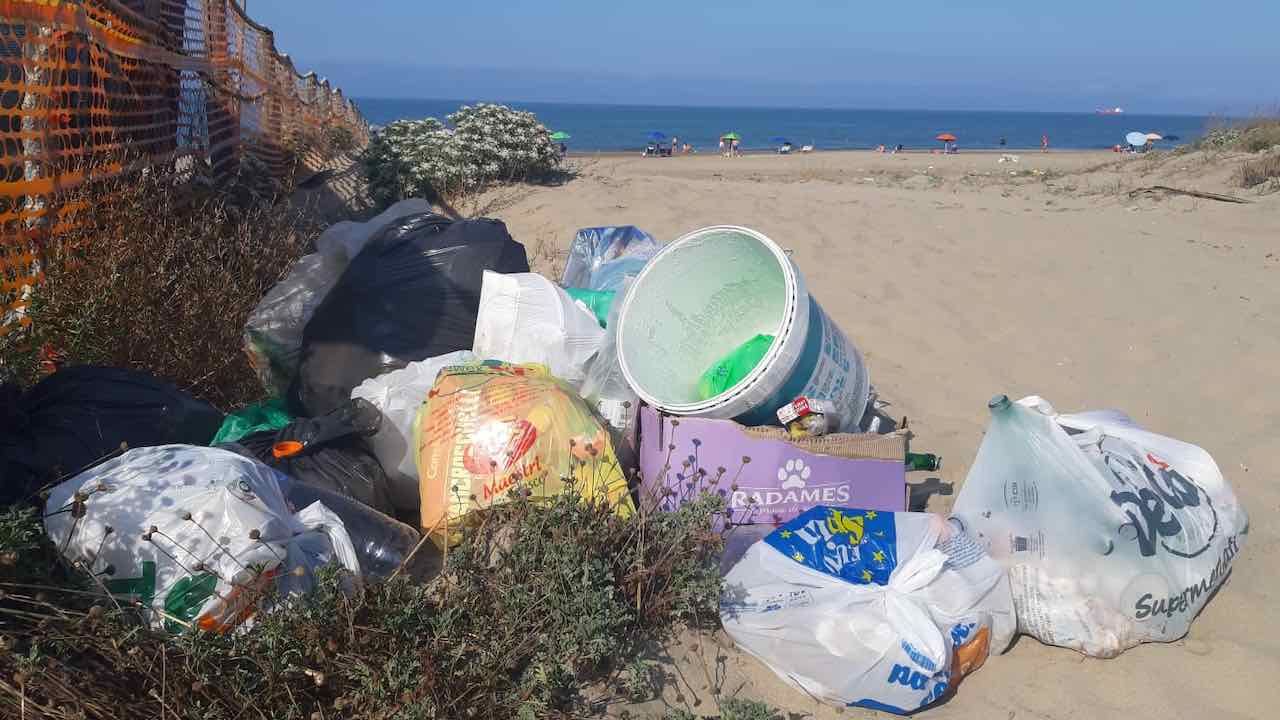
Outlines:
{"label": "orange plastic mesh fence netting at the upper left", "polygon": [[225,178],[246,155],[284,174],[288,149],[332,128],[367,140],[234,0],[0,0],[0,333],[27,322],[59,193],[123,151],[178,177]]}

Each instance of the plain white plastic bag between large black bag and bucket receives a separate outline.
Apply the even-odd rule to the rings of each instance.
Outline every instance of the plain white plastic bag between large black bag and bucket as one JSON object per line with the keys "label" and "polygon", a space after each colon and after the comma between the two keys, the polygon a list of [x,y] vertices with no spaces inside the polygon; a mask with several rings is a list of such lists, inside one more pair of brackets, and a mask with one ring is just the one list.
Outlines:
{"label": "plain white plastic bag between large black bag and bucket", "polygon": [[547,365],[577,386],[603,338],[595,315],[543,275],[484,272],[471,348],[477,357]]}

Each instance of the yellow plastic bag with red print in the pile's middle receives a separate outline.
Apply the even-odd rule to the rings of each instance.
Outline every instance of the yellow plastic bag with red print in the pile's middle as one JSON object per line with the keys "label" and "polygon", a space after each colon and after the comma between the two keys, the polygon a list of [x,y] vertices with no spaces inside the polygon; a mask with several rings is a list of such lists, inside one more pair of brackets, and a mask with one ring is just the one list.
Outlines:
{"label": "yellow plastic bag with red print in the pile's middle", "polygon": [[626,477],[604,425],[543,365],[444,368],[413,423],[422,528],[443,536],[471,510],[571,483],[630,512]]}

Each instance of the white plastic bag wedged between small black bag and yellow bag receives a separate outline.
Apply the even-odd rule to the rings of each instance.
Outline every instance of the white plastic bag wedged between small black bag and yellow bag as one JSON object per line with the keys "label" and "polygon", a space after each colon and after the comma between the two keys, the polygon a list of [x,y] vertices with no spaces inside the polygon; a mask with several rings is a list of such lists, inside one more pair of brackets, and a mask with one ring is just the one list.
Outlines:
{"label": "white plastic bag wedged between small black bag and yellow bag", "polygon": [[413,447],[413,419],[426,402],[435,384],[435,375],[449,365],[474,363],[470,350],[458,350],[436,357],[410,363],[399,370],[370,378],[351,391],[352,400],[362,397],[383,414],[383,423],[369,443],[387,471],[392,505],[399,510],[417,510],[419,479]]}

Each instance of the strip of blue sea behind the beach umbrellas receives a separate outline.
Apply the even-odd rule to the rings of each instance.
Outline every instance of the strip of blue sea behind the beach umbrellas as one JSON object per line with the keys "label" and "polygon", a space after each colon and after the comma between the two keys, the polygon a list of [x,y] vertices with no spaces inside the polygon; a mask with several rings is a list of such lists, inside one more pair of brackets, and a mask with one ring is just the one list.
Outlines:
{"label": "strip of blue sea behind the beach umbrellas", "polygon": [[[490,100],[492,101],[492,100]],[[376,126],[393,120],[434,117],[444,120],[466,100],[356,99],[365,118]],[[972,110],[806,110],[781,108],[675,108],[644,105],[577,105],[566,102],[503,102],[535,113],[548,128],[571,136],[571,151],[640,150],[650,133],[666,142],[680,138],[700,151],[714,150],[719,137],[736,132],[746,150],[768,150],[783,140],[797,149],[873,149],[878,145],[933,149],[941,133],[951,133],[965,149],[1039,149],[1047,136],[1051,149],[1100,150],[1123,145],[1129,132],[1158,133],[1157,146],[1194,141],[1215,118],[1147,115],[1138,113],[1009,113]],[[1000,140],[1005,138],[1005,145]]]}

